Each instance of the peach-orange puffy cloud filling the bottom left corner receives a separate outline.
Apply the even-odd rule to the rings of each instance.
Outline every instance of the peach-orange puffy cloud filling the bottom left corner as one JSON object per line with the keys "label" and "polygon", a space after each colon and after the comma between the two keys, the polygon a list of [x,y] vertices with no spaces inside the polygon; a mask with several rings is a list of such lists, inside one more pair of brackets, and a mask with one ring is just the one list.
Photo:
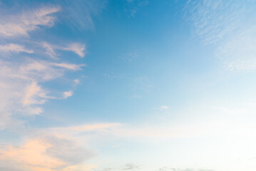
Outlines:
{"label": "peach-orange puffy cloud filling the bottom left corner", "polygon": [[78,167],[88,170],[90,166],[83,162],[94,155],[94,152],[77,145],[73,140],[44,136],[26,140],[18,147],[7,145],[0,149],[0,167],[12,170],[19,166],[19,170],[29,171],[69,171]]}

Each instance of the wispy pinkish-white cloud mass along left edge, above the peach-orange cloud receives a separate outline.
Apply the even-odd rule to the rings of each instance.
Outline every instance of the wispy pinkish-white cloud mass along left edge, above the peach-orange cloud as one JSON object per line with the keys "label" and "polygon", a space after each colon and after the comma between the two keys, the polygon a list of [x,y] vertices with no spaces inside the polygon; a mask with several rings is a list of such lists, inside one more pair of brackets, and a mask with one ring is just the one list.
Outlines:
{"label": "wispy pinkish-white cloud mass along left edge, above the peach-orange cloud", "polygon": [[[14,113],[18,118],[19,116],[39,115],[43,112],[41,105],[46,101],[68,98],[73,94],[73,91],[69,90],[51,95],[51,88],[46,90],[42,84],[63,77],[67,71],[78,71],[85,66],[84,64],[64,63],[61,61],[61,56],[55,52],[56,49],[73,51],[83,57],[85,45],[67,42],[66,44],[70,46],[61,47],[52,46],[42,38],[36,41],[29,40],[31,31],[36,31],[41,26],[53,26],[56,21],[54,13],[60,10],[58,6],[44,6],[26,9],[26,11],[12,15],[1,14],[0,36],[6,42],[18,41],[20,43],[0,45],[2,54],[0,56],[0,129],[15,129],[26,122],[26,120],[14,119]],[[26,36],[28,40],[24,42],[19,36]],[[22,42],[26,43],[26,46]],[[39,48],[44,48],[46,52],[42,54]],[[19,54],[21,52],[31,53],[32,57]],[[4,53],[10,58],[1,58]],[[41,58],[42,56],[51,58]],[[16,60],[17,57],[19,60]],[[56,62],[57,59],[58,62]]]}

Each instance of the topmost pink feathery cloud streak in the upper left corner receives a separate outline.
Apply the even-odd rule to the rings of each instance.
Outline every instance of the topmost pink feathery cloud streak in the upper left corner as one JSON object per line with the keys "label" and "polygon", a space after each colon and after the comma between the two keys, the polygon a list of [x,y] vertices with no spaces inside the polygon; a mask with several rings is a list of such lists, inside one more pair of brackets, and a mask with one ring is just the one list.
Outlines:
{"label": "topmost pink feathery cloud streak in the upper left corner", "polygon": [[0,17],[0,36],[28,36],[29,31],[34,31],[39,26],[51,27],[55,17],[51,14],[60,11],[59,7],[43,7],[34,10],[27,10],[21,14]]}

